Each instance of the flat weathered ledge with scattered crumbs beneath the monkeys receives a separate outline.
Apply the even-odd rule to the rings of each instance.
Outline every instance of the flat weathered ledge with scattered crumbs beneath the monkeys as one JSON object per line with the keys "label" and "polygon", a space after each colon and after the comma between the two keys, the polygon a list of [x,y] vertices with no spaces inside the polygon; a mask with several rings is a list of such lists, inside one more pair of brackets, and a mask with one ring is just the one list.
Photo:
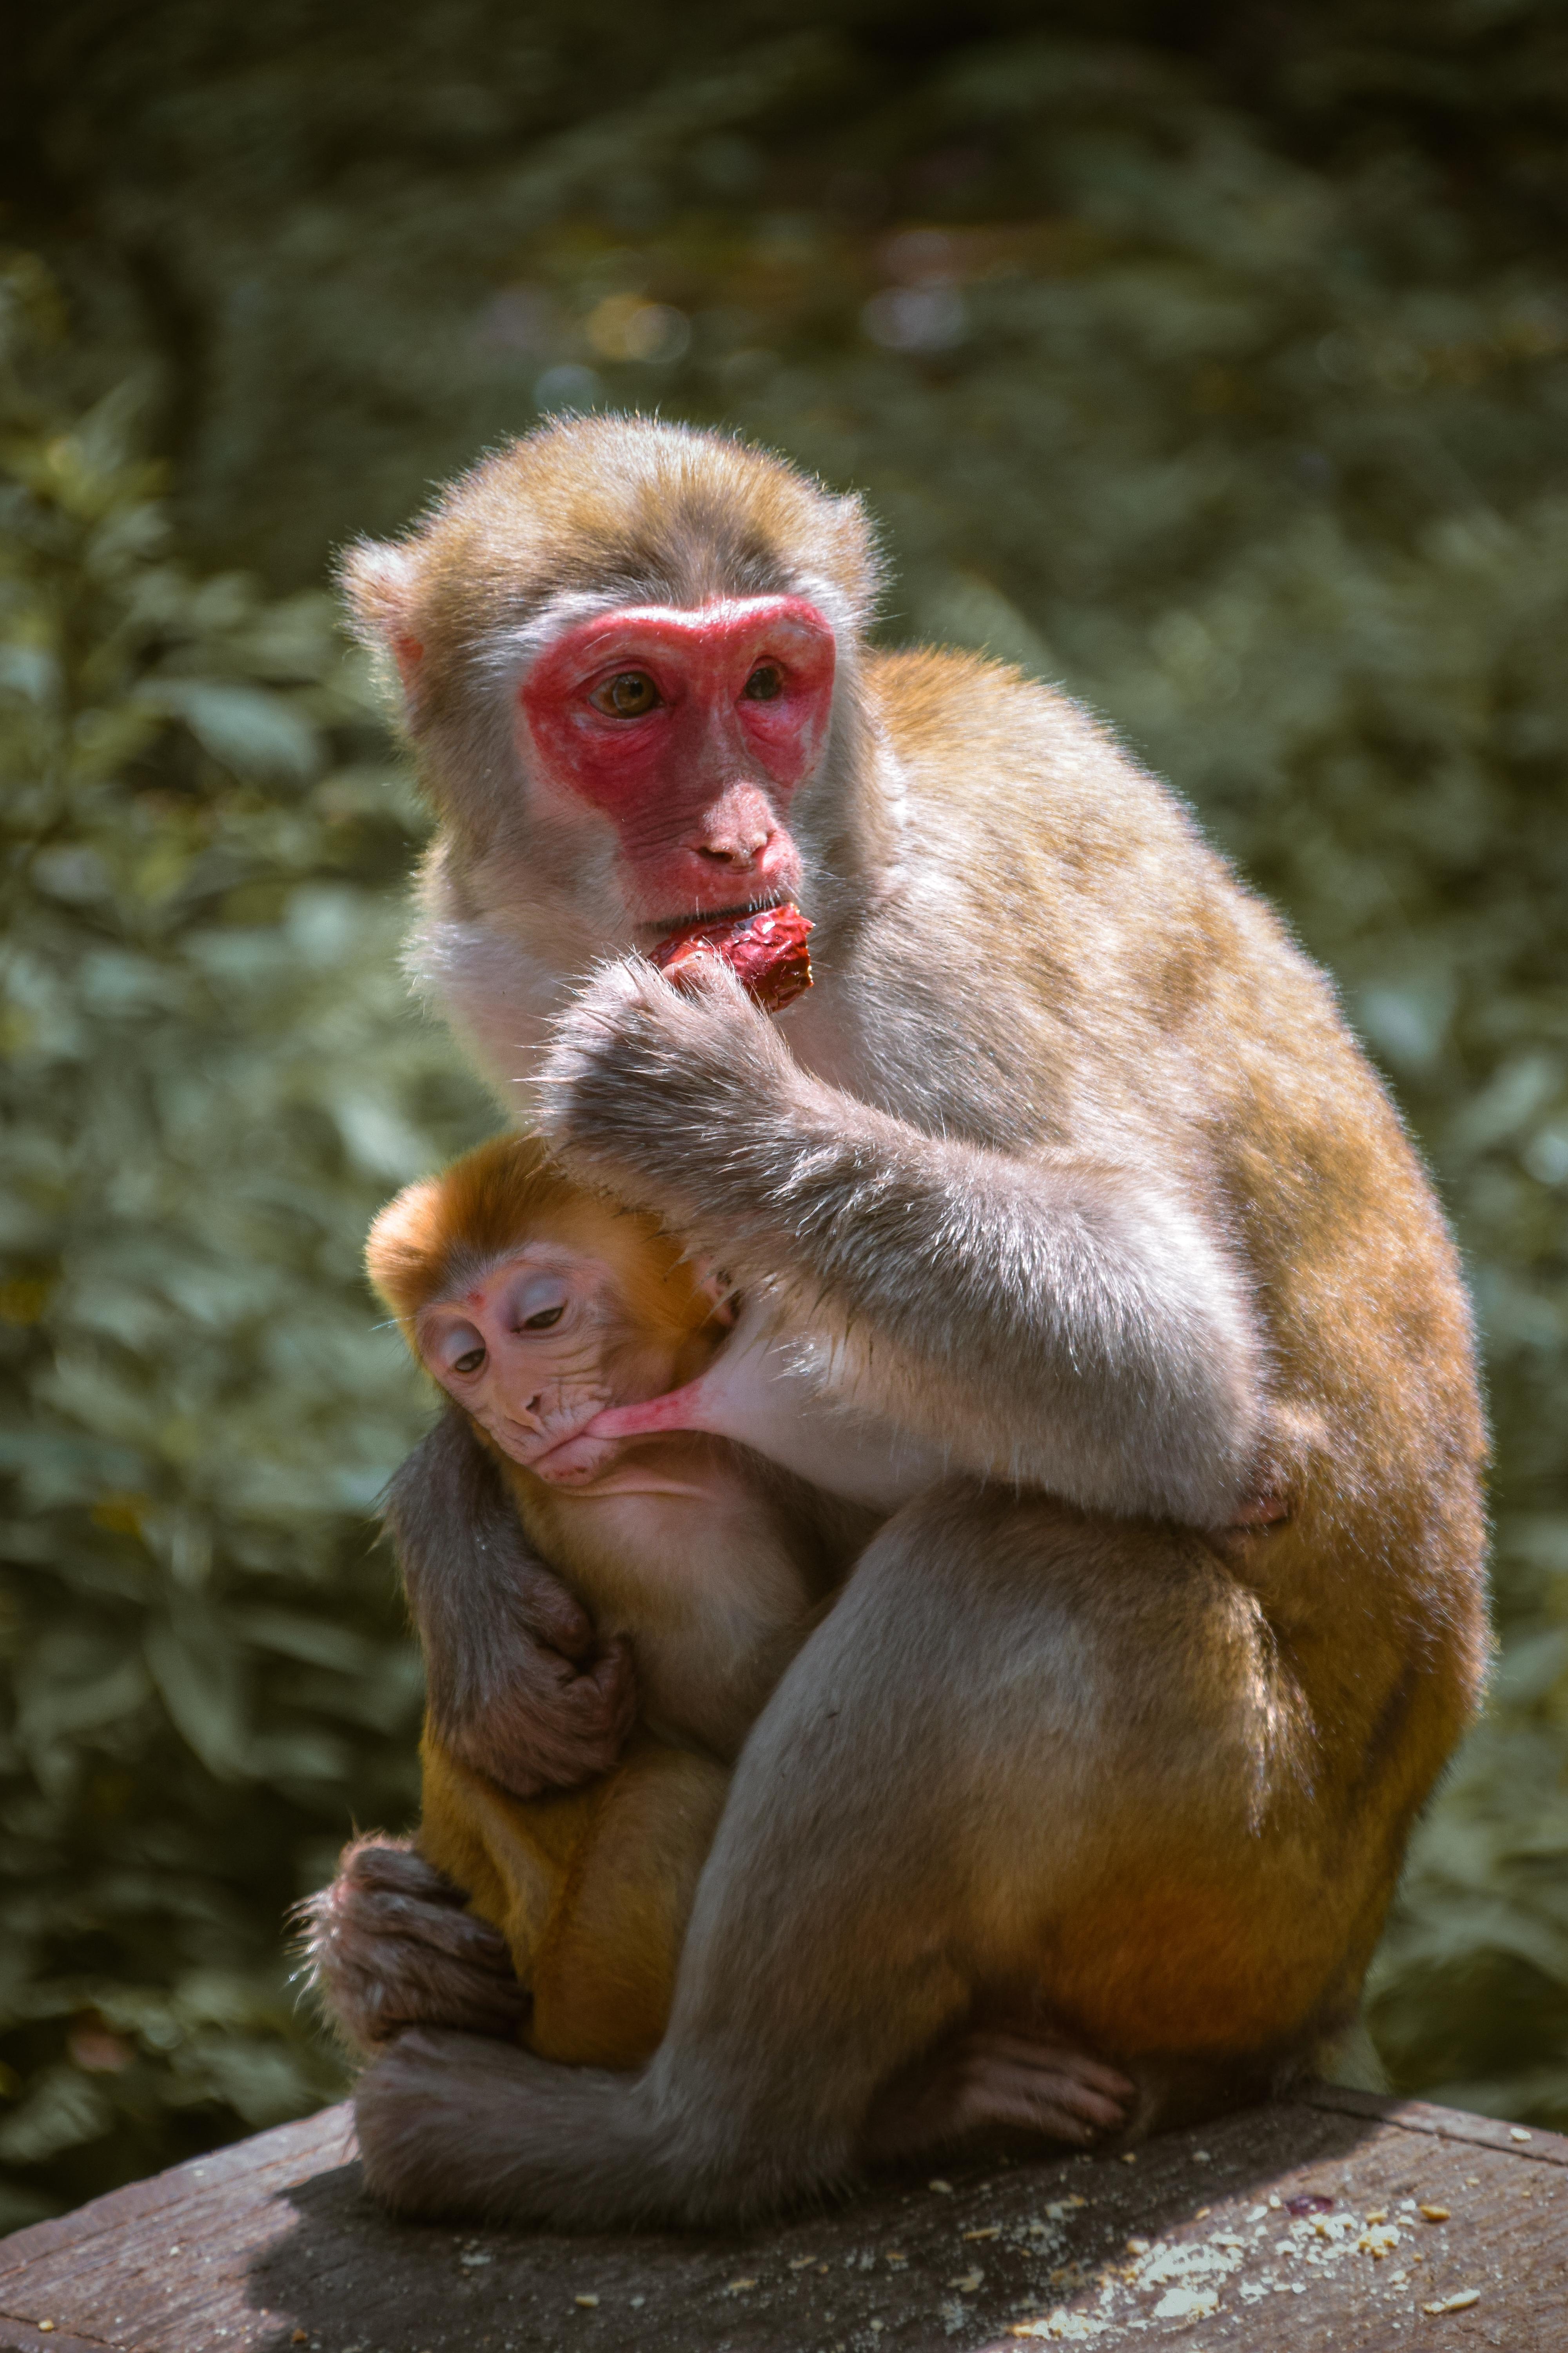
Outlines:
{"label": "flat weathered ledge with scattered crumbs beneath the monkeys", "polygon": [[[1422,2214],[1422,2207],[1429,2214]],[[1446,2212],[1443,2212],[1446,2209]],[[1432,2311],[1439,2306],[1439,2311]],[[329,2108],[0,2240],[5,2353],[1568,2348],[1568,2141],[1314,2089],[736,2235],[393,2224]]]}

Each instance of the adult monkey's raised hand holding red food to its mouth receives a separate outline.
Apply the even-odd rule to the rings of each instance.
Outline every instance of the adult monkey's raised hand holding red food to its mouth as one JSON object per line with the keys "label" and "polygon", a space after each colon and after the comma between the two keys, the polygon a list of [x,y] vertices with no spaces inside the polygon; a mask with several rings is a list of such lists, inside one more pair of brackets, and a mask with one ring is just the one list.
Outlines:
{"label": "adult monkey's raised hand holding red food to its mouth", "polygon": [[[567,1167],[689,1233],[717,1162],[811,1089],[766,1014],[712,955],[672,988],[639,955],[604,965],[557,1019],[538,1125]],[[705,1238],[724,1254],[733,1217]]]}

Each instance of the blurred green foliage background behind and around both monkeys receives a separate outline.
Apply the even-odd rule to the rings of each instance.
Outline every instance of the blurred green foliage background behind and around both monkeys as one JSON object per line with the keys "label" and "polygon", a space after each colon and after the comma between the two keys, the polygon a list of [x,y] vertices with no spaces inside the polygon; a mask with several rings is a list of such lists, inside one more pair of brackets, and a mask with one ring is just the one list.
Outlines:
{"label": "blurred green foliage background behind and around both monkeys", "polygon": [[329,548],[541,407],[884,518],[1338,974],[1460,1226],[1502,1666],[1368,1993],[1568,2125],[1568,38],[1293,12],[66,5],[0,153],[0,2224],[341,2082],[287,1904],[414,1788],[364,1224],[491,1113]]}

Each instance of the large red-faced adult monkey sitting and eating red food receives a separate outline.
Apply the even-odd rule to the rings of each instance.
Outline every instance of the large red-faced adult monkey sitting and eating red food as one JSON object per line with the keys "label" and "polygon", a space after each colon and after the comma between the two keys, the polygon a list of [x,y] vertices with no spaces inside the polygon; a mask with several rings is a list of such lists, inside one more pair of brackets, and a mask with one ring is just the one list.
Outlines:
{"label": "large red-faced adult monkey sitting and eating red food", "polygon": [[[1354,2009],[1476,1699],[1467,1308],[1328,986],[1072,704],[867,652],[875,584],[853,501],[614,419],[348,562],[442,814],[425,972],[503,1096],[994,1473],[905,1506],[788,1668],[642,2075],[416,2031],[362,2078],[409,2212],[717,2219],[976,2120],[1081,2129],[1086,2073],[961,2040],[987,2019],[1145,2120],[1246,2097]],[[818,986],[778,1024],[722,972],[597,969],[785,894]],[[477,1475],[447,1426],[395,1499],[470,1701]],[[437,1894],[400,1899],[435,1941]],[[376,1889],[329,1901],[364,1972]],[[414,1979],[383,2021],[477,2014]]]}

